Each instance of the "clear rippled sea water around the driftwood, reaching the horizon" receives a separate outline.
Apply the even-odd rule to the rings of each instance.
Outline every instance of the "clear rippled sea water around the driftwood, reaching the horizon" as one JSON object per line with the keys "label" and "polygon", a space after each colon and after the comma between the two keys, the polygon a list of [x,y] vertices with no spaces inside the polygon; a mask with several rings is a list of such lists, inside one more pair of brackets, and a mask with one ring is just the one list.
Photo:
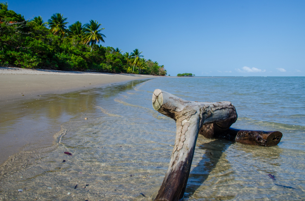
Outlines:
{"label": "clear rippled sea water around the driftwood, reaching the horizon", "polygon": [[29,124],[54,140],[29,142],[1,165],[0,200],[153,200],[176,131],[152,108],[158,88],[230,101],[233,128],[283,133],[274,147],[199,135],[184,200],[305,200],[305,77],[167,77],[25,102],[30,112],[2,122],[2,133]]}

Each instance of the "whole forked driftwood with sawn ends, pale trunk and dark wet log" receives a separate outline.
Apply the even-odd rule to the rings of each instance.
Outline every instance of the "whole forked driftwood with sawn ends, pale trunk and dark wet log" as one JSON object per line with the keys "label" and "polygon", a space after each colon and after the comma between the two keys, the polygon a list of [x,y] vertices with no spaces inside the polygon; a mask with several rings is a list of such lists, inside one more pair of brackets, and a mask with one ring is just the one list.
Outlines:
{"label": "whole forked driftwood with sawn ends, pale trunk and dark wet log", "polygon": [[[237,119],[237,113],[235,107],[228,101],[215,103],[188,101],[156,89],[152,95],[152,105],[156,111],[174,119],[177,126],[174,150],[164,180],[155,198],[156,201],[183,199],[199,130],[200,134],[208,138],[225,136],[223,138],[232,139],[236,133],[235,141],[238,138],[237,141],[243,143],[250,139],[247,136],[251,135],[252,131],[230,128]],[[265,141],[271,141],[271,144],[274,144],[275,139],[279,136],[271,133],[270,135],[273,137],[269,139],[268,133],[255,132],[258,132],[255,133],[256,136],[261,136]],[[258,138],[255,138],[256,141]],[[258,139],[258,141],[260,140]]]}

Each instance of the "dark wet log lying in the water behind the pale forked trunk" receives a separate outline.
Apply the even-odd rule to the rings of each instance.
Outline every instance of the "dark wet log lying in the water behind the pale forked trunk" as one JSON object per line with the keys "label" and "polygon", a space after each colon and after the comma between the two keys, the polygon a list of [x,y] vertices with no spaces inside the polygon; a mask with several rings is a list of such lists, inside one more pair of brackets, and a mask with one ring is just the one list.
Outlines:
{"label": "dark wet log lying in the water behind the pale forked trunk", "polygon": [[222,129],[217,124],[205,124],[199,134],[206,138],[224,138],[247,145],[274,146],[283,136],[280,131],[250,131],[236,128]]}

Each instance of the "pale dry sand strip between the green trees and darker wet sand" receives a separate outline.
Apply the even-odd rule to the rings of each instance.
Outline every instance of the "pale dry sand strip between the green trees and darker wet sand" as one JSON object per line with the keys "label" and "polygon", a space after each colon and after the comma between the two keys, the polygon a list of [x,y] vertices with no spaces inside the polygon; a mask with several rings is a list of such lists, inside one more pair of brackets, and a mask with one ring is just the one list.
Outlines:
{"label": "pale dry sand strip between the green trees and darker wet sand", "polygon": [[0,104],[147,78],[156,76],[0,67]]}

